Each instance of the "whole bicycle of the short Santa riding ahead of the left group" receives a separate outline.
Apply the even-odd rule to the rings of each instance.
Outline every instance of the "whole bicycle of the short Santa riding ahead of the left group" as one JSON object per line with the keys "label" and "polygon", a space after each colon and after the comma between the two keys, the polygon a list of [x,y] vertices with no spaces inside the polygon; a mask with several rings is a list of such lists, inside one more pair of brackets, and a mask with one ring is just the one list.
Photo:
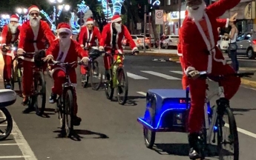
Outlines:
{"label": "whole bicycle of the short Santa riding ahead of the left group", "polygon": [[62,84],[62,95],[60,95],[56,101],[56,109],[59,113],[59,120],[61,126],[61,136],[72,136],[73,133],[73,95],[74,86],[70,82],[69,72],[70,69],[76,65],[82,65],[82,61],[73,61],[72,63],[61,62],[61,61],[50,61],[48,64],[51,66],[59,65],[65,67],[65,83]]}

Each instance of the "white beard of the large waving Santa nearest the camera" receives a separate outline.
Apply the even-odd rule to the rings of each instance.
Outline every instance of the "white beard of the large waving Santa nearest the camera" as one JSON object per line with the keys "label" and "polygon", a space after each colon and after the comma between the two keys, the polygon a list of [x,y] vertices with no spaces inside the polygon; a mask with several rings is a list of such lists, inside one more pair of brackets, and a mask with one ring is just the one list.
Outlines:
{"label": "white beard of the large waving Santa nearest the camera", "polygon": [[193,7],[187,6],[188,16],[194,21],[200,21],[201,19],[203,19],[203,13],[206,9],[206,3],[203,1],[203,3],[200,4],[198,7],[199,8],[197,10],[193,10]]}

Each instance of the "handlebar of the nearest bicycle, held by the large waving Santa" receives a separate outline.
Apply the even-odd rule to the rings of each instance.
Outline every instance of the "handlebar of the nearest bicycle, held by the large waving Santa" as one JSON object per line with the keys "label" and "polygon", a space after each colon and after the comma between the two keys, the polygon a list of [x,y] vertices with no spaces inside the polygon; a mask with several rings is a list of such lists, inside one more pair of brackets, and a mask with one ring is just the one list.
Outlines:
{"label": "handlebar of the nearest bicycle, held by the large waving Santa", "polygon": [[[251,78],[251,76],[255,75],[255,73],[230,73],[230,74],[225,74],[225,75],[217,75],[217,76],[212,76],[209,75],[209,73],[207,73],[206,71],[201,71],[199,72],[200,76],[199,79],[207,79],[208,77],[214,78],[214,79],[224,79],[227,76],[237,76],[237,77],[249,77]],[[188,76],[188,78],[191,79],[191,76]]]}

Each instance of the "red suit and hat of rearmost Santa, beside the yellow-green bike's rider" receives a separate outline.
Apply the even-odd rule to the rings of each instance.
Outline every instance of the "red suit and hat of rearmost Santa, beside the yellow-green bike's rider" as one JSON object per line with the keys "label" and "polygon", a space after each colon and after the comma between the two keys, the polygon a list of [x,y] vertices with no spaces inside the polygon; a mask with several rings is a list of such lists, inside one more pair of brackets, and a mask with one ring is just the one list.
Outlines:
{"label": "red suit and hat of rearmost Santa, beside the yellow-green bike's rider", "polygon": [[[87,19],[86,23],[87,24],[93,24],[93,19],[89,18]],[[79,44],[81,44],[81,47],[96,47],[96,39],[98,41],[101,39],[101,35],[99,32],[98,27],[94,27],[92,30],[88,30],[88,27],[82,27],[80,35],[79,35]],[[80,67],[81,74],[85,75],[86,73],[86,68],[84,66]]]}

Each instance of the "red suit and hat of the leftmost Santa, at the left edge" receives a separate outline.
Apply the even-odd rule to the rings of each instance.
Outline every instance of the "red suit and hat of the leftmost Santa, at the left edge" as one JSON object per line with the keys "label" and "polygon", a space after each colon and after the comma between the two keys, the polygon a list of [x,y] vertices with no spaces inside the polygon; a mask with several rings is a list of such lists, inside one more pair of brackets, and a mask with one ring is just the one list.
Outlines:
{"label": "red suit and hat of the leftmost Santa, at the left edge", "polygon": [[[10,16],[10,21],[19,21],[19,17],[16,15]],[[4,29],[1,33],[2,37],[2,46],[6,45],[7,47],[10,47],[11,44],[13,44],[15,41],[19,39],[19,24],[7,24],[4,26]],[[14,30],[15,29],[15,30]],[[2,52],[3,59],[4,59],[4,80],[10,81],[11,76],[11,69],[12,69],[12,59],[14,57],[14,51],[7,50],[7,52]]]}

